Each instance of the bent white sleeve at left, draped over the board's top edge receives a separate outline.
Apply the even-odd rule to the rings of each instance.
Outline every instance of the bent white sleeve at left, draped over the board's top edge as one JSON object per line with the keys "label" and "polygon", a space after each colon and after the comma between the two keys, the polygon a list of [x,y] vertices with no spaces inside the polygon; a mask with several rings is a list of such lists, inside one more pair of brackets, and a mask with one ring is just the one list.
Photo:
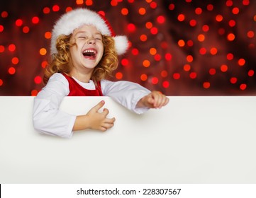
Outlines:
{"label": "bent white sleeve at left, draped over the board's top edge", "polygon": [[69,94],[67,79],[53,74],[47,85],[38,93],[33,106],[34,128],[43,134],[70,138],[76,115],[59,110],[62,99]]}

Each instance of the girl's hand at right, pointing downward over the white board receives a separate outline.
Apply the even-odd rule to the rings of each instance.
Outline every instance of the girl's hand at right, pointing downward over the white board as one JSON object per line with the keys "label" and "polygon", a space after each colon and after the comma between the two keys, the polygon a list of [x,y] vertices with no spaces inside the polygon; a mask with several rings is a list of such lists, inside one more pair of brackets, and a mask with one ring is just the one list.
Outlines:
{"label": "girl's hand at right, pointing downward over the white board", "polygon": [[161,108],[169,103],[169,98],[159,91],[152,91],[141,98],[136,107]]}

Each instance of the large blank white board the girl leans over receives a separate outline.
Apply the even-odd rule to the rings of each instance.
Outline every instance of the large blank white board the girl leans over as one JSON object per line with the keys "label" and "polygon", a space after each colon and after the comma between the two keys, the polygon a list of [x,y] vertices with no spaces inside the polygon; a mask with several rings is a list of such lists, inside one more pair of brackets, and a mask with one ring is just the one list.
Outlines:
{"label": "large blank white board the girl leans over", "polygon": [[255,183],[256,98],[169,97],[143,115],[108,97],[66,97],[85,114],[105,100],[115,126],[71,139],[33,129],[32,96],[0,97],[0,183]]}

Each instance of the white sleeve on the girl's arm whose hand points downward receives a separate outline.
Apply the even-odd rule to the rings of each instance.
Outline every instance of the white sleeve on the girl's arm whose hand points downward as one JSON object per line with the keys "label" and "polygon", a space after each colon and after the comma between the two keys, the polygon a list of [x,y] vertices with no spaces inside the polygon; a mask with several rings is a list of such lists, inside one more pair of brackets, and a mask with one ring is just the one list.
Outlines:
{"label": "white sleeve on the girl's arm whose hand points downward", "polygon": [[113,98],[113,100],[135,113],[141,114],[149,109],[148,107],[136,108],[138,101],[150,93],[147,88],[140,86],[138,83],[102,80],[101,90],[103,95]]}

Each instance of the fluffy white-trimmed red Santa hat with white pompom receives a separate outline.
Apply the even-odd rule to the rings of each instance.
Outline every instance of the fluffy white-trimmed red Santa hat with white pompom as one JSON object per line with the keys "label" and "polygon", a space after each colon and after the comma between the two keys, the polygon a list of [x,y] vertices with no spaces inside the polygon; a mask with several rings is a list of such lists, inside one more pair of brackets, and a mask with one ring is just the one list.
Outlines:
{"label": "fluffy white-trimmed red Santa hat with white pompom", "polygon": [[57,53],[56,40],[60,35],[69,35],[74,29],[82,25],[94,25],[102,35],[110,35],[115,41],[115,48],[118,55],[123,54],[128,49],[128,39],[123,35],[115,35],[111,25],[104,16],[99,15],[87,8],[77,8],[65,13],[54,25],[50,54]]}

